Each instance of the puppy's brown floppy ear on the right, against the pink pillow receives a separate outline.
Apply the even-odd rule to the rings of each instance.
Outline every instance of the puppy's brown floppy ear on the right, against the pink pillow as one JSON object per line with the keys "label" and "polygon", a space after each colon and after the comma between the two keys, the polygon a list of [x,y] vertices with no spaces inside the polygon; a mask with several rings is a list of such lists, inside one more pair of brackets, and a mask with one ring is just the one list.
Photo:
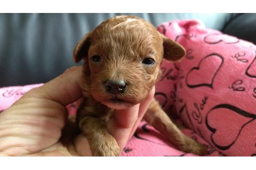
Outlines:
{"label": "puppy's brown floppy ear on the right, against the pink pillow", "polygon": [[163,36],[163,57],[170,61],[182,59],[186,54],[185,49],[175,41]]}

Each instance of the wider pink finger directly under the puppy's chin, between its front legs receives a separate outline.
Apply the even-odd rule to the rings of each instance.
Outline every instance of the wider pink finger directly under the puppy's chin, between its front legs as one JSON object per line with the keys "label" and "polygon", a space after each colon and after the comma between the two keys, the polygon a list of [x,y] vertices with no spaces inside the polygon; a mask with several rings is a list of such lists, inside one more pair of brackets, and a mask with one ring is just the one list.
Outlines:
{"label": "wider pink finger directly under the puppy's chin, between its front legs", "polygon": [[116,110],[113,117],[109,120],[109,133],[116,138],[122,150],[129,139],[134,122],[138,118],[139,104],[127,109]]}

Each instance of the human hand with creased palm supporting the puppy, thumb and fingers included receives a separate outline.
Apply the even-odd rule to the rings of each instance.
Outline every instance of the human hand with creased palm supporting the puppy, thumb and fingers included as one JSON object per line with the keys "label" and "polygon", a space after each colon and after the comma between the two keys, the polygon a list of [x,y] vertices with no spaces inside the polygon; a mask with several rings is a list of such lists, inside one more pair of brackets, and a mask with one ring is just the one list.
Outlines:
{"label": "human hand with creased palm supporting the puppy, thumb and fingers included", "polygon": [[[66,106],[81,97],[81,69],[81,66],[67,69],[57,78],[24,94],[0,114],[0,155],[92,155],[82,134],[73,136],[67,145],[62,141],[68,132],[77,128],[72,122],[67,123],[70,121],[67,121]],[[136,130],[154,94],[155,87],[146,101],[116,110],[110,119],[109,132],[121,150]]]}

